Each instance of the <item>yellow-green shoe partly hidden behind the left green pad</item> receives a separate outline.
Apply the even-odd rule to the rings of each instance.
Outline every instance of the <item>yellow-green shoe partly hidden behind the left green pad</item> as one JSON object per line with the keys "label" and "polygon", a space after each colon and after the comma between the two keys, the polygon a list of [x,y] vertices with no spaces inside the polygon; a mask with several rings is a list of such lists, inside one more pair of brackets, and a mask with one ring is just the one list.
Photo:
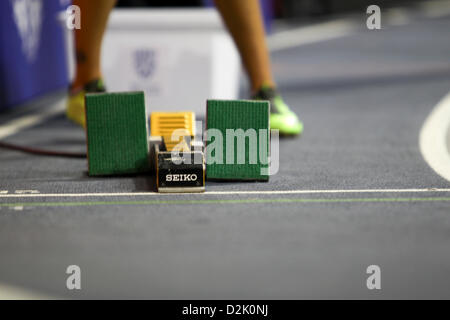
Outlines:
{"label": "yellow-green shoe partly hidden behind the left green pad", "polygon": [[94,80],[81,89],[70,89],[66,106],[66,116],[76,124],[86,128],[86,112],[84,96],[86,93],[105,92],[103,80]]}

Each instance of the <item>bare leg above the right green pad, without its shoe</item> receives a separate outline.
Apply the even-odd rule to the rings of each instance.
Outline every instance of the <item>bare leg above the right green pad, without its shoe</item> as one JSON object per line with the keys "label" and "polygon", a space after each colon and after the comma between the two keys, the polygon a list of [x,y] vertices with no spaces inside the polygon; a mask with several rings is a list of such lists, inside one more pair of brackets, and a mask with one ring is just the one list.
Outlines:
{"label": "bare leg above the right green pad, without its shoe", "polygon": [[252,91],[274,86],[259,0],[215,0],[250,79]]}

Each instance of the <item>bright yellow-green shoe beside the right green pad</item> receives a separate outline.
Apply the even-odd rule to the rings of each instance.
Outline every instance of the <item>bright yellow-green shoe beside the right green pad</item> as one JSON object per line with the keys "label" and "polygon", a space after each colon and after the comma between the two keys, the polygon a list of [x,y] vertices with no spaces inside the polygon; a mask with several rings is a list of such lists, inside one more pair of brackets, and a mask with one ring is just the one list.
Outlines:
{"label": "bright yellow-green shoe beside the right green pad", "polygon": [[275,88],[262,86],[252,99],[270,102],[270,129],[279,130],[280,135],[299,135],[303,132],[303,123],[289,109]]}

